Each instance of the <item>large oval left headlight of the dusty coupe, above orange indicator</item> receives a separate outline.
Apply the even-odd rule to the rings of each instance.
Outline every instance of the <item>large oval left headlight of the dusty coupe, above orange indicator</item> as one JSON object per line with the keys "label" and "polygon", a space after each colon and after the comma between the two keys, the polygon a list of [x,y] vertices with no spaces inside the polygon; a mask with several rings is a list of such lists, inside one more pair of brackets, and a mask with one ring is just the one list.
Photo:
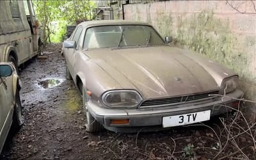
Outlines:
{"label": "large oval left headlight of the dusty coupe, above orange indicator", "polygon": [[134,90],[111,90],[105,92],[101,99],[110,108],[135,108],[142,101],[141,95]]}

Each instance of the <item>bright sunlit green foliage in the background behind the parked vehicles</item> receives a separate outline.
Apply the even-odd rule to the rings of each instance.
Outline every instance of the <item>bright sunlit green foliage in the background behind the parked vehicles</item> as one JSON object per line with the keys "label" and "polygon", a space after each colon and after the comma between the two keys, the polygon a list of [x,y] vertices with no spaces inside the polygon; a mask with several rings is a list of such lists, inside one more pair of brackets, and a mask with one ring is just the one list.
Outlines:
{"label": "bright sunlit green foliage in the background behind the parked vehicles", "polygon": [[[44,43],[51,42],[51,39],[53,42],[60,42],[60,37],[65,33],[68,24],[78,24],[81,21],[91,20],[94,15],[93,8],[95,8],[95,3],[90,0],[33,0],[33,5],[36,17],[42,26]],[[54,24],[57,22],[60,26],[52,27],[52,22]]]}

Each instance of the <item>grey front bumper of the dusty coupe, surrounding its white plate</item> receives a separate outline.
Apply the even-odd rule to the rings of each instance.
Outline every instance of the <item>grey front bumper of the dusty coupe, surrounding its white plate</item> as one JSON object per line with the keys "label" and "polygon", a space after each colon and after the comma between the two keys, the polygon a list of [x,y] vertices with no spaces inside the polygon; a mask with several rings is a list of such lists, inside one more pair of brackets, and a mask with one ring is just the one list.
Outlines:
{"label": "grey front bumper of the dusty coupe, surrounding its white plate", "polygon": [[[104,127],[116,131],[113,128],[143,127],[143,126],[161,126],[163,116],[182,115],[186,113],[195,113],[199,111],[211,110],[211,116],[227,113],[232,110],[232,103],[239,99],[243,92],[236,90],[228,93],[227,97],[220,97],[214,101],[209,100],[179,104],[170,108],[136,108],[136,109],[111,109],[101,108],[93,102],[87,102],[87,107],[92,116]],[[236,99],[232,99],[234,97]],[[229,107],[227,107],[229,106]],[[127,124],[112,124],[112,120],[128,119]]]}

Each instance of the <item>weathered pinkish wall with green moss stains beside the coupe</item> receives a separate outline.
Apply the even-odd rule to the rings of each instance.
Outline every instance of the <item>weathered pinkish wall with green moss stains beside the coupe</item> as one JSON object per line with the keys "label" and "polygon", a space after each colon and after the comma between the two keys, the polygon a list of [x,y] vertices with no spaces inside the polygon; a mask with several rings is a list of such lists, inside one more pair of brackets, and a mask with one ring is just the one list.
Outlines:
{"label": "weathered pinkish wall with green moss stains beside the coupe", "polygon": [[[246,99],[256,101],[256,1],[164,1],[127,4],[124,17],[144,20],[175,44],[232,68]],[[247,104],[256,112],[256,104]],[[248,109],[249,111],[249,109]],[[255,116],[255,114],[251,115]]]}

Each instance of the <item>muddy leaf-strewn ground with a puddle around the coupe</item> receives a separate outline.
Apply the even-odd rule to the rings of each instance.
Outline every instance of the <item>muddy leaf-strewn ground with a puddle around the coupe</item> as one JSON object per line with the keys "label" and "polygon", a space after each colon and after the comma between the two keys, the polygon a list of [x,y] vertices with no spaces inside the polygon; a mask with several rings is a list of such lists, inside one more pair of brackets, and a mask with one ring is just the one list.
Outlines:
{"label": "muddy leaf-strewn ground with a puddle around the coupe", "polygon": [[61,44],[48,45],[46,59],[21,70],[26,122],[10,134],[0,159],[256,159],[255,124],[243,116],[160,132],[88,134],[81,96],[65,79],[60,51]]}

